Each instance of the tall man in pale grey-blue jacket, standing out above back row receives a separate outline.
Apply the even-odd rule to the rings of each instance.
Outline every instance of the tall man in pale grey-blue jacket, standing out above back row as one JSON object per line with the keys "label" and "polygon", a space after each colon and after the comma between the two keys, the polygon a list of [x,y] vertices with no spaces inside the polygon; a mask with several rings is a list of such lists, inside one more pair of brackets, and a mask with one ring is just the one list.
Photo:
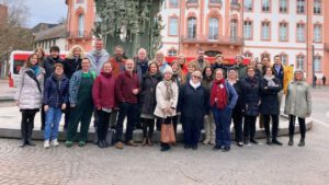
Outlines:
{"label": "tall man in pale grey-blue jacket, standing out above back row", "polygon": [[103,65],[110,58],[110,55],[103,48],[103,45],[104,44],[102,39],[97,39],[94,44],[94,49],[87,54],[87,57],[89,58],[91,65],[90,68],[91,70],[94,70],[98,76],[101,73]]}

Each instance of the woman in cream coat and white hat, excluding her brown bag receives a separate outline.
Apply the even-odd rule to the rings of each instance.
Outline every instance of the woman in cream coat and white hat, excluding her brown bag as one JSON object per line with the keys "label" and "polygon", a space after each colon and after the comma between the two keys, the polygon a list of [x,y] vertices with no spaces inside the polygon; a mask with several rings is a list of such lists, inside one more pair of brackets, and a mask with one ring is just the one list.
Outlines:
{"label": "woman in cream coat and white hat, excluding her brown bag", "polygon": [[[177,115],[179,90],[178,85],[172,82],[172,69],[168,66],[163,70],[163,80],[158,83],[156,90],[157,106],[155,115],[162,119],[161,124],[171,124],[172,117]],[[170,149],[170,144],[161,142],[161,151]]]}

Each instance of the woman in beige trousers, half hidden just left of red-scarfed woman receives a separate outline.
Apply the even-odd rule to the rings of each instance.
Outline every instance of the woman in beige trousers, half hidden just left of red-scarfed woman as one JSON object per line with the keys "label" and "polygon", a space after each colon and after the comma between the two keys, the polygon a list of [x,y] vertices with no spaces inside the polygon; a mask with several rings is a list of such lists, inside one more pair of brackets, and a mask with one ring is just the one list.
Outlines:
{"label": "woman in beige trousers, half hidden just left of red-scarfed woman", "polygon": [[[212,67],[206,67],[203,70],[203,79],[202,79],[202,86],[205,89],[207,99],[211,97],[211,89],[213,85],[214,80],[214,71]],[[204,117],[204,129],[205,129],[205,139],[203,141],[204,144],[215,144],[215,122],[214,116],[209,108],[207,108],[207,112],[205,113]]]}

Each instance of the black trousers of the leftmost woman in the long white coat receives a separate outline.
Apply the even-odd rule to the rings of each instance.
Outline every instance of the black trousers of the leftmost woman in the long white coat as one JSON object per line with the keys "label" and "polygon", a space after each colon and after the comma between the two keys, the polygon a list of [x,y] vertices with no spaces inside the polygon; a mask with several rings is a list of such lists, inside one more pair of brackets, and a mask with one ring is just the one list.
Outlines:
{"label": "black trousers of the leftmost woman in the long white coat", "polygon": [[32,138],[32,131],[34,126],[34,117],[37,111],[34,109],[23,109],[22,122],[21,122],[21,135],[22,140],[27,142]]}

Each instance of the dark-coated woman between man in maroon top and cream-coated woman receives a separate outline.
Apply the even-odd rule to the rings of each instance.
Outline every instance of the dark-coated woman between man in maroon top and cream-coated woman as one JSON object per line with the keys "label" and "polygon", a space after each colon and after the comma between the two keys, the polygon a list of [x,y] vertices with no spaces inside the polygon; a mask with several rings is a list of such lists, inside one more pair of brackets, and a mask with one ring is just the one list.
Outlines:
{"label": "dark-coated woman between man in maroon top and cream-coated woman", "polygon": [[140,84],[140,118],[143,123],[143,142],[141,146],[152,146],[152,135],[156,116],[154,114],[157,100],[156,89],[161,81],[162,76],[159,72],[158,65],[150,62],[147,73],[143,77]]}

